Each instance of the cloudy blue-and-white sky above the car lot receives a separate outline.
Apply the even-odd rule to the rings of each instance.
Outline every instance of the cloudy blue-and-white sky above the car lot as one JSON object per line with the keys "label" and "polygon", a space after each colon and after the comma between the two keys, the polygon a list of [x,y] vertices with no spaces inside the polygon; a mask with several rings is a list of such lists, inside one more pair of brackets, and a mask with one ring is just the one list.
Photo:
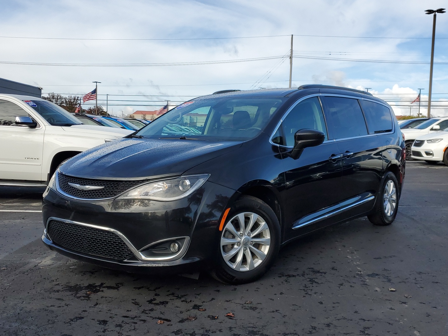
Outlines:
{"label": "cloudy blue-and-white sky above the car lot", "polygon": [[[433,15],[425,10],[448,6],[443,0],[0,5],[0,78],[80,96],[98,81],[99,104],[106,108],[108,95],[108,112],[120,116],[217,90],[288,87],[291,34],[293,87],[369,88],[396,115],[417,114],[411,102],[421,88],[426,114]],[[448,13],[437,15],[434,61],[431,114],[448,116]]]}

